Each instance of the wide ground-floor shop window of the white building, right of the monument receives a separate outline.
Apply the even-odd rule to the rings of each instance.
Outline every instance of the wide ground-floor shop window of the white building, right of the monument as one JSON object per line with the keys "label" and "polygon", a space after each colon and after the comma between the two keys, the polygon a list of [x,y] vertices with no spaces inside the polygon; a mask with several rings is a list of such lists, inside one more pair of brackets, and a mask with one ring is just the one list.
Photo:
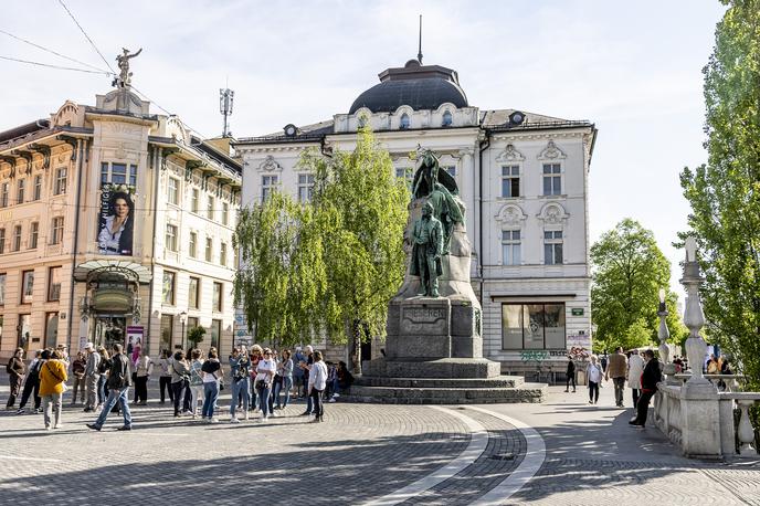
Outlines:
{"label": "wide ground-floor shop window of the white building, right of the monument", "polygon": [[564,303],[502,304],[503,349],[564,349]]}

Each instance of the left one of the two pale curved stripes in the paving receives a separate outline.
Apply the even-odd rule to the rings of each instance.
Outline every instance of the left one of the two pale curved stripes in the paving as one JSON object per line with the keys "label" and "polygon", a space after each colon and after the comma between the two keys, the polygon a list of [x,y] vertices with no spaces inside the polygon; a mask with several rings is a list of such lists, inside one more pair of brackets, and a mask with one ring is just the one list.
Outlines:
{"label": "left one of the two pale curved stripes in the paving", "polygon": [[404,500],[414,497],[434,487],[439,483],[445,482],[446,479],[456,475],[458,472],[473,464],[485,451],[486,445],[488,444],[488,432],[486,432],[485,428],[477,421],[452,409],[441,408],[437,405],[431,405],[429,408],[443,411],[446,414],[451,414],[462,420],[462,422],[467,425],[467,429],[469,429],[469,444],[456,458],[434,473],[429,474],[428,476],[418,479],[416,482],[407,485],[405,487],[400,488],[392,494],[370,500],[369,503],[365,503],[365,506],[386,506],[403,503]]}

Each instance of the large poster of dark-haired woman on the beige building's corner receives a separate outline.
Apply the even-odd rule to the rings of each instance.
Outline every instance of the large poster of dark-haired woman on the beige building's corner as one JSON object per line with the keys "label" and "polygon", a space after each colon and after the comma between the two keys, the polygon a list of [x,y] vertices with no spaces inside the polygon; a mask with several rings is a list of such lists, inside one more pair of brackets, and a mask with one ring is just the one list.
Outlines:
{"label": "large poster of dark-haired woman on the beige building's corner", "polygon": [[101,190],[97,251],[103,255],[131,256],[135,188],[106,182]]}

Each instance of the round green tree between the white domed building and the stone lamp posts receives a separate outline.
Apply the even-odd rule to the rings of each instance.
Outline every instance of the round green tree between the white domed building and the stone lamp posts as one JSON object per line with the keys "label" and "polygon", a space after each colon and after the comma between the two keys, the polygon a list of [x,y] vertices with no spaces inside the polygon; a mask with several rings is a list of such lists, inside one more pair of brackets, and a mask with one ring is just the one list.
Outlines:
{"label": "round green tree between the white domed building and the stone lamp posts", "polygon": [[[659,288],[667,291],[671,284],[671,264],[652,232],[626,218],[591,246],[591,263],[594,349],[629,349],[657,342]],[[675,294],[669,293],[666,307],[672,340],[684,333],[675,303]]]}

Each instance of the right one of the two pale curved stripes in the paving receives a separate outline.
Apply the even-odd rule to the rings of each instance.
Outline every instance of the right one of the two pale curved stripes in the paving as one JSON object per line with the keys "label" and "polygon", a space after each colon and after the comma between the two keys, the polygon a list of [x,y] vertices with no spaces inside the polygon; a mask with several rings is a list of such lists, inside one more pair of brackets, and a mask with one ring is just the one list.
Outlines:
{"label": "right one of the two pale curved stripes in the paving", "polygon": [[515,425],[515,428],[522,433],[522,436],[528,444],[525,458],[522,458],[520,465],[515,471],[509,473],[509,476],[507,476],[502,483],[496,485],[473,503],[473,505],[476,506],[504,504],[505,500],[517,493],[517,491],[522,488],[536,475],[538,470],[541,468],[541,465],[543,465],[543,461],[546,458],[546,444],[543,443],[543,438],[541,438],[541,434],[539,434],[536,429],[511,417],[507,417],[506,414],[497,413],[483,408],[468,407],[468,409],[479,411]]}

